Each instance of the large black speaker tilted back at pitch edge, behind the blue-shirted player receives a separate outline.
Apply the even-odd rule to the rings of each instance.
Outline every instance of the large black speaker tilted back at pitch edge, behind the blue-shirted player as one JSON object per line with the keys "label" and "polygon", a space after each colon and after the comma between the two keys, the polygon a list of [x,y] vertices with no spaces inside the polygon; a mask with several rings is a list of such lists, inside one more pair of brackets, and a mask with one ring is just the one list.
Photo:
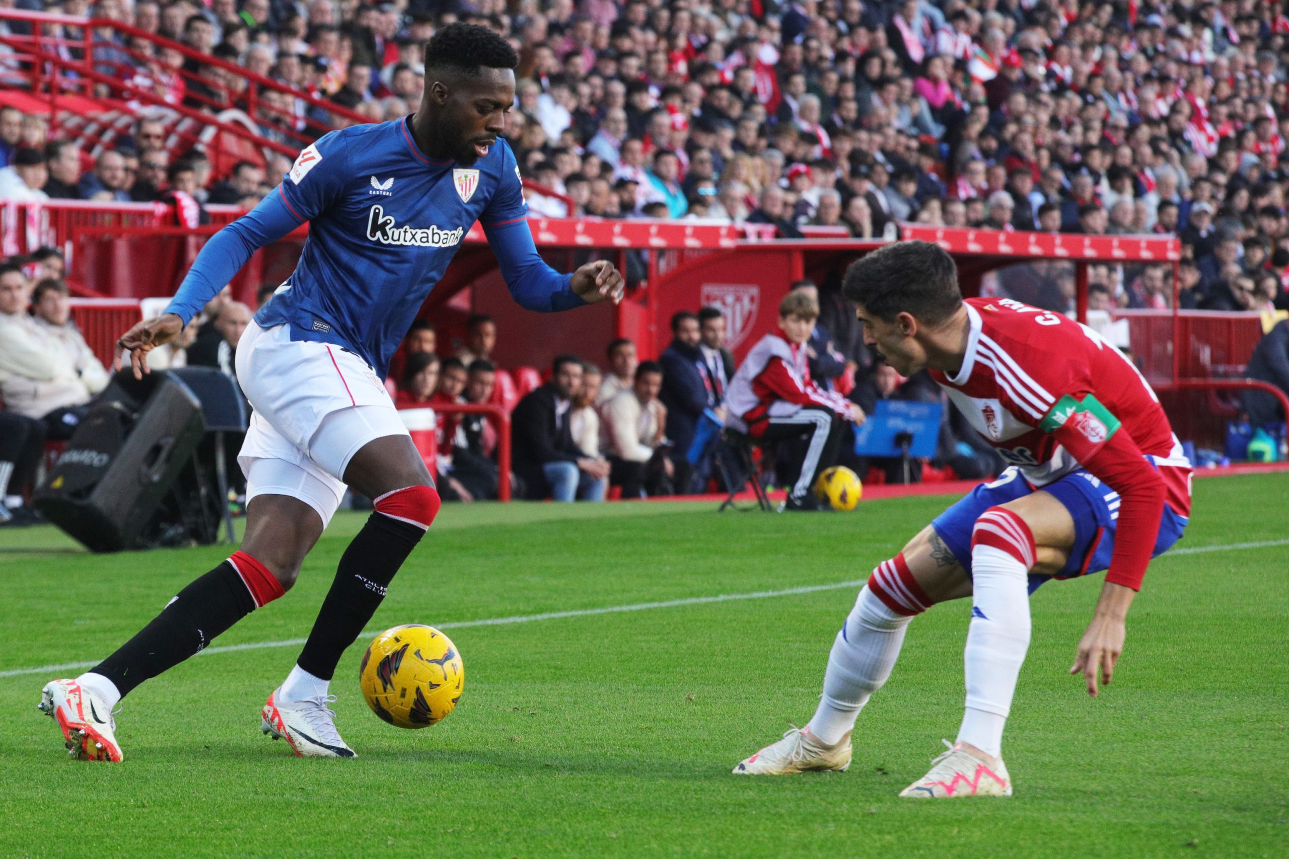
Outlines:
{"label": "large black speaker tilted back at pitch edge, behind the blue-shirted player", "polygon": [[196,458],[204,433],[201,403],[182,381],[120,372],[32,502],[92,551],[214,542],[218,506]]}

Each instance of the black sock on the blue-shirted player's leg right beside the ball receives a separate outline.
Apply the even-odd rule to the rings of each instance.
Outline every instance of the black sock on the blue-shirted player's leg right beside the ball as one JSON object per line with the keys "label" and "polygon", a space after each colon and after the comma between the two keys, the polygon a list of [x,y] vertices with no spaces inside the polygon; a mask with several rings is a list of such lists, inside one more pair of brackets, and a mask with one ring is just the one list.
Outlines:
{"label": "black sock on the blue-shirted player's leg right beside the ball", "polygon": [[340,558],[331,590],[300,650],[298,665],[315,677],[330,680],[345,648],[376,613],[394,573],[425,534],[425,528],[373,513]]}

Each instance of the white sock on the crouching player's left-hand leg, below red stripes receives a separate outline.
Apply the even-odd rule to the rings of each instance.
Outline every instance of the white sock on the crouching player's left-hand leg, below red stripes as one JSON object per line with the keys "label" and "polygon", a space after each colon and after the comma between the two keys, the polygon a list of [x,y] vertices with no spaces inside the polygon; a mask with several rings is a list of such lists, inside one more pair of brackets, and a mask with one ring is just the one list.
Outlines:
{"label": "white sock on the crouching player's left-hand leg, below red stripes", "polygon": [[860,710],[891,676],[913,617],[896,614],[864,587],[828,656],[824,694],[809,733],[833,746],[855,728]]}

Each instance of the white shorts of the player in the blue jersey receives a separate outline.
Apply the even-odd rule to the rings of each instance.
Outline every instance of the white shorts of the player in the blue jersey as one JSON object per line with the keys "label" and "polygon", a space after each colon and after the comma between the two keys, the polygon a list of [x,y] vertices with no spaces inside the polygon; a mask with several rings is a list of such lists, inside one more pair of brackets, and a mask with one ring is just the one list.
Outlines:
{"label": "white shorts of the player in the blue jersey", "polygon": [[251,321],[237,343],[237,382],[254,413],[237,464],[246,502],[285,495],[325,528],[344,497],[344,470],[367,442],[407,435],[366,361],[327,343],[291,340],[290,326]]}

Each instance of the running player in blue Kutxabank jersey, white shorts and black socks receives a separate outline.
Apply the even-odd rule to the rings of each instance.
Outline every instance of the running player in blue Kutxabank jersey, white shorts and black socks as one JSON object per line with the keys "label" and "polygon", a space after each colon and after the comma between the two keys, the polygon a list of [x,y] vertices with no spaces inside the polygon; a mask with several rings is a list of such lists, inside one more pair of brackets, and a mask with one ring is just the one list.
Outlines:
{"label": "running player in blue Kutxabank jersey, white shorts and black socks", "polygon": [[398,341],[476,220],[522,307],[566,310],[623,294],[607,261],[558,274],[538,256],[519,169],[500,139],[517,64],[486,27],[443,27],[425,48],[414,115],[333,131],[305,148],[273,193],[202,249],[166,312],[121,337],[135,376],[147,372],[147,353],[178,336],[257,249],[309,224],[290,279],[237,345],[237,379],[254,407],[238,456],[241,547],[92,671],[45,685],[41,710],[58,721],[71,756],[120,761],[116,703],[282,596],[348,484],[375,510],[260,716],[264,733],[296,755],[353,757],[327,706],[329,683],[440,504],[382,382]]}

